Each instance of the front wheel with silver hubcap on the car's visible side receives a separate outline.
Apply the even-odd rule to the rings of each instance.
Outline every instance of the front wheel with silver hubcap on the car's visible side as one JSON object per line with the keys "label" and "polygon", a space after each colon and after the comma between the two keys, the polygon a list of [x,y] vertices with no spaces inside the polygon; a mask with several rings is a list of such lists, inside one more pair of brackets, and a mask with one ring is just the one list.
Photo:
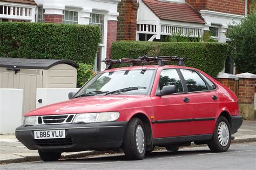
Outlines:
{"label": "front wheel with silver hubcap on the car's visible side", "polygon": [[132,118],[125,131],[124,154],[128,160],[140,160],[146,153],[146,135],[144,125],[139,118]]}

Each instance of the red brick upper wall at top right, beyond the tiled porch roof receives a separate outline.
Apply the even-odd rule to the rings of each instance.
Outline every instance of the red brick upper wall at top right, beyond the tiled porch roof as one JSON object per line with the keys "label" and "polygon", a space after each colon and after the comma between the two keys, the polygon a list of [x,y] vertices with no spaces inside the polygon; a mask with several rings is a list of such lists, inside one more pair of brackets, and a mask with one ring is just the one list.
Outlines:
{"label": "red brick upper wall at top right, beyond the tiled porch roof", "polygon": [[245,0],[186,0],[186,2],[197,10],[245,14]]}

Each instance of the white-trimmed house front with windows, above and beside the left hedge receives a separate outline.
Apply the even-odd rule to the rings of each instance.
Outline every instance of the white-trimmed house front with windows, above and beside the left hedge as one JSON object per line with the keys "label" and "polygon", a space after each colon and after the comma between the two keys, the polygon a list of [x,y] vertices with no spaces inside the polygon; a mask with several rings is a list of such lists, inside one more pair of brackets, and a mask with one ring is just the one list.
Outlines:
{"label": "white-trimmed house front with windows, above and beside the left hedge", "polygon": [[117,39],[117,5],[120,0],[2,0],[0,21],[98,25],[101,42],[95,71],[105,69],[100,61],[110,57],[111,44]]}

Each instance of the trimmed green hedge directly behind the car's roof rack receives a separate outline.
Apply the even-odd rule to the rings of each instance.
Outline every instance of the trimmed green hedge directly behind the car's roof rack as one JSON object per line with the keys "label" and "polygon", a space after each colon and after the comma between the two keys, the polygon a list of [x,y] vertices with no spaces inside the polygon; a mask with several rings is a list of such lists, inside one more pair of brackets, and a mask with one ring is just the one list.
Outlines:
{"label": "trimmed green hedge directly behind the car's roof rack", "polygon": [[112,44],[111,52],[113,59],[138,58],[143,55],[187,57],[186,66],[196,67],[216,77],[224,69],[227,44],[120,41]]}

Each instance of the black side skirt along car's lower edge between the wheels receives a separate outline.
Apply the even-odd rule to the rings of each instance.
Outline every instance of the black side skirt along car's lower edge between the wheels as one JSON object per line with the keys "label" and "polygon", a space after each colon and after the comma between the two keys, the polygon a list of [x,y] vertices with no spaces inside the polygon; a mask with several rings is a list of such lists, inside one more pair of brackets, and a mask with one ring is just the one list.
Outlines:
{"label": "black side skirt along car's lower edge between the wheels", "polygon": [[182,144],[192,141],[206,141],[212,139],[212,134],[187,135],[182,137],[154,138],[153,145],[164,146]]}

